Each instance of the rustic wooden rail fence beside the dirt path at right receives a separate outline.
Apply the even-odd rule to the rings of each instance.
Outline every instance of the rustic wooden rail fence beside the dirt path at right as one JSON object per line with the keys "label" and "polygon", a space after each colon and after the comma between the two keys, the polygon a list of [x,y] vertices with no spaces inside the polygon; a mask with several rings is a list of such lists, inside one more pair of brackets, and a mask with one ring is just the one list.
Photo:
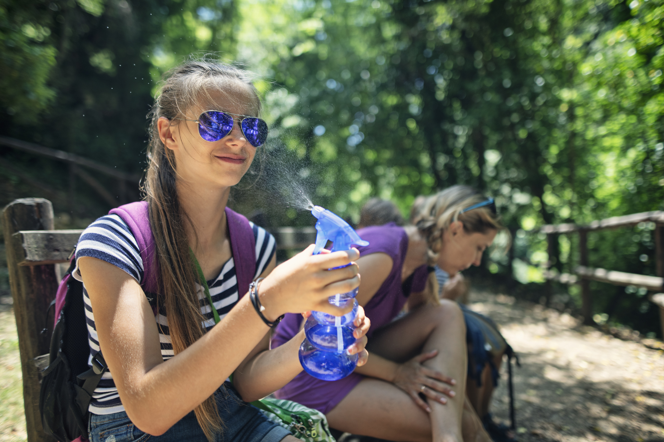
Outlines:
{"label": "rustic wooden rail fence beside the dirt path at right", "polygon": [[[655,223],[655,268],[657,276],[646,276],[641,274],[616,272],[604,268],[592,268],[588,262],[588,232],[603,229],[618,229],[620,227],[633,227],[639,223]],[[614,286],[635,286],[645,288],[650,292],[664,291],[664,211],[651,211],[633,213],[622,217],[612,217],[592,221],[588,225],[556,224],[545,225],[539,229],[546,233],[549,256],[552,256],[554,241],[558,241],[558,235],[578,233],[579,235],[579,265],[574,267],[571,273],[558,273],[550,270],[549,262],[546,264],[544,277],[548,280],[556,280],[564,284],[581,285],[581,311],[586,324],[592,324],[592,296],[590,294],[590,281],[606,282]],[[664,294],[655,293],[649,296],[649,300],[659,305],[659,313],[664,335]]]}

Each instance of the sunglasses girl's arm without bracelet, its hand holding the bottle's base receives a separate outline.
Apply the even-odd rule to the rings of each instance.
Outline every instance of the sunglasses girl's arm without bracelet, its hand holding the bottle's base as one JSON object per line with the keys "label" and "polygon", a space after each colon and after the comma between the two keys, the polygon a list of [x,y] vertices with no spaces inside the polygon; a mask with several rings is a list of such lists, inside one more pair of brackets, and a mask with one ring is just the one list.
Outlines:
{"label": "sunglasses girl's arm without bracelet, its hand holding the bottle's base", "polygon": [[[273,257],[261,277],[270,274],[275,265],[276,257]],[[369,319],[365,317],[362,307],[355,320],[355,326],[358,328],[355,329],[354,335],[359,341],[350,350],[351,354],[360,353],[357,365],[361,366],[367,361],[367,351],[364,348],[367,343],[365,334],[369,330]],[[304,341],[304,330],[300,330],[290,341],[272,350],[270,350],[270,334],[265,335],[233,374],[233,385],[245,402],[268,396],[288,384],[302,371],[298,353],[299,346]]]}

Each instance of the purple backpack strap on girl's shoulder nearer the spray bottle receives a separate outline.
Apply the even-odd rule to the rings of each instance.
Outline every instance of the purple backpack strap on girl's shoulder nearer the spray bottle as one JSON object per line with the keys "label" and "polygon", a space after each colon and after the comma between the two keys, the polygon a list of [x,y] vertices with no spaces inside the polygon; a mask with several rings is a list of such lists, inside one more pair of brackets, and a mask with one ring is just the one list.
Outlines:
{"label": "purple backpack strap on girl's shoulder nearer the spray bottle", "polygon": [[249,284],[254,280],[256,273],[256,239],[248,219],[228,207],[226,207],[226,223],[241,298],[248,292]]}

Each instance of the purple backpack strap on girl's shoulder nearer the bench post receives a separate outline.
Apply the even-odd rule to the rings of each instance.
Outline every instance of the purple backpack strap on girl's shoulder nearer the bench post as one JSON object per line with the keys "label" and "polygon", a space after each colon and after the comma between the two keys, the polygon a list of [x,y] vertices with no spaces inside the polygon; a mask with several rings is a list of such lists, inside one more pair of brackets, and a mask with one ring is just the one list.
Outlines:
{"label": "purple backpack strap on girl's shoulder nearer the bench post", "polygon": [[155,259],[155,238],[150,229],[149,207],[147,201],[136,201],[116,207],[108,212],[118,215],[127,223],[136,239],[141,260],[143,260],[143,292],[157,292],[157,260]]}

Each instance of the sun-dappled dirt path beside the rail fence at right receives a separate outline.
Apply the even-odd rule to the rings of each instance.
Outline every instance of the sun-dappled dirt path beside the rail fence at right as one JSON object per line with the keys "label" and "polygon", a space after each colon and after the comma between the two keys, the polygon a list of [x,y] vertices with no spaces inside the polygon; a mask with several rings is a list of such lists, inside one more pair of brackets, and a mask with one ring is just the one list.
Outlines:
{"label": "sun-dappled dirt path beside the rail fence at right", "polygon": [[[475,292],[521,359],[514,384],[518,439],[664,441],[664,351],[580,326],[570,315]],[[493,414],[509,419],[507,370]]]}

